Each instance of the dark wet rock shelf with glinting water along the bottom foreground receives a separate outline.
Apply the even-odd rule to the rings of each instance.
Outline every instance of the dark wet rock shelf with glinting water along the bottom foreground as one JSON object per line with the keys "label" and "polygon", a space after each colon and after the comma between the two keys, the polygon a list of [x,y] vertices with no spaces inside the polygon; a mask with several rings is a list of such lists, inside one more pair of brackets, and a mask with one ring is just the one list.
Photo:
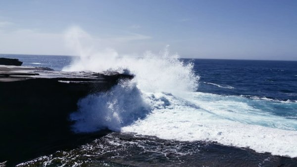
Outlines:
{"label": "dark wet rock shelf with glinting water along the bottom foreground", "polygon": [[75,149],[17,167],[296,167],[297,159],[206,141],[163,140],[112,132]]}

